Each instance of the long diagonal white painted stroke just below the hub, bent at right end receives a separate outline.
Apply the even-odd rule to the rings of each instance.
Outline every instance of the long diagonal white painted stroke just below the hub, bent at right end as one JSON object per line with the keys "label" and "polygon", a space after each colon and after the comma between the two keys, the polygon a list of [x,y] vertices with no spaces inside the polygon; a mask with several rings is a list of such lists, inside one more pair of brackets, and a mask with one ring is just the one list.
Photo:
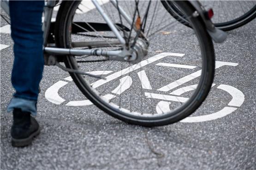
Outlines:
{"label": "long diagonal white painted stroke just below the hub, bent at right end", "polygon": [[160,60],[160,59],[162,59],[164,57],[167,57],[167,56],[182,57],[184,55],[185,54],[171,53],[171,52],[164,52],[164,53],[158,54],[158,55],[156,55],[154,57],[150,57],[150,58],[148,58],[146,60],[143,60],[143,61],[141,61],[141,62],[139,62],[137,64],[134,64],[134,65],[132,65],[132,66],[130,66],[128,68],[125,68],[125,69],[123,69],[123,70],[121,70],[119,72],[110,74],[109,76],[106,77],[106,80],[100,79],[100,80],[96,81],[95,83],[93,83],[92,87],[93,88],[99,87],[100,85],[103,85],[103,84],[105,84],[105,83],[107,83],[107,82],[109,82],[109,81],[111,81],[113,79],[116,79],[116,78],[118,78],[118,77],[120,77],[122,75],[128,74],[128,73],[130,73],[132,71],[135,71],[135,70],[137,70],[139,68],[142,68],[142,67],[144,67],[144,66],[146,66],[146,65],[148,65],[148,64],[150,64],[152,62],[155,62],[157,60]]}

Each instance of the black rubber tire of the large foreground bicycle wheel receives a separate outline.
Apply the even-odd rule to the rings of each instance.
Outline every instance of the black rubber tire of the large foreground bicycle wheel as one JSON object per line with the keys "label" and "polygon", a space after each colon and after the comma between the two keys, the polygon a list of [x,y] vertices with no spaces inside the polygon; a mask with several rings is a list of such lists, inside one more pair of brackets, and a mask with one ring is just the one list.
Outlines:
{"label": "black rubber tire of the large foreground bicycle wheel", "polygon": [[[62,2],[59,12],[56,17],[55,24],[55,40],[56,45],[62,48],[69,48],[69,26],[73,18],[74,11],[77,8],[77,1],[64,1]],[[191,15],[195,9],[191,6],[188,1],[178,1],[177,4],[186,9],[186,13]],[[142,125],[142,126],[162,126],[175,123],[181,119],[192,114],[204,101],[208,92],[211,88],[214,79],[214,47],[210,36],[208,35],[206,28],[200,17],[191,18],[193,27],[195,27],[198,41],[200,41],[200,50],[202,51],[202,75],[200,77],[200,83],[193,93],[189,102],[182,105],[181,108],[177,109],[171,115],[162,115],[159,117],[143,117],[133,114],[127,114],[118,108],[113,108],[112,105],[105,102],[95,93],[95,89],[86,82],[86,80],[80,74],[70,73],[77,87],[82,93],[93,102],[98,108],[113,116],[114,118],[125,121],[129,124]],[[74,56],[65,56],[65,66],[67,68],[79,69],[78,64]]]}

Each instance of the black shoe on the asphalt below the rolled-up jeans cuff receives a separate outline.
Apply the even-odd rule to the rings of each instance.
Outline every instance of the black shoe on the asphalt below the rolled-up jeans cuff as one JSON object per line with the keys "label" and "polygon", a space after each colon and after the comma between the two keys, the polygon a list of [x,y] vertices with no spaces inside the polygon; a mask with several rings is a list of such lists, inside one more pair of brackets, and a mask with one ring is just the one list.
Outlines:
{"label": "black shoe on the asphalt below the rolled-up jeans cuff", "polygon": [[30,112],[22,112],[20,108],[14,108],[12,113],[12,146],[27,146],[32,142],[35,136],[39,135],[39,125],[36,119],[30,116]]}

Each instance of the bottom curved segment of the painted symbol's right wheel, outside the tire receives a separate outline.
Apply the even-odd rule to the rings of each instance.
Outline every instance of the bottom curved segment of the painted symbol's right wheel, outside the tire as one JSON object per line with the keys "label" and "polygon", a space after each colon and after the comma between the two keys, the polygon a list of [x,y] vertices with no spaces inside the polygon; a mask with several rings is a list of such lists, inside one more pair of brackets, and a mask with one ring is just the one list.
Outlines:
{"label": "bottom curved segment of the painted symbol's right wheel, outside the tire", "polygon": [[237,108],[233,108],[233,107],[225,107],[221,109],[219,112],[202,115],[202,116],[186,117],[185,119],[182,119],[180,122],[193,123],[193,122],[205,122],[205,121],[215,120],[232,113],[236,109]]}

